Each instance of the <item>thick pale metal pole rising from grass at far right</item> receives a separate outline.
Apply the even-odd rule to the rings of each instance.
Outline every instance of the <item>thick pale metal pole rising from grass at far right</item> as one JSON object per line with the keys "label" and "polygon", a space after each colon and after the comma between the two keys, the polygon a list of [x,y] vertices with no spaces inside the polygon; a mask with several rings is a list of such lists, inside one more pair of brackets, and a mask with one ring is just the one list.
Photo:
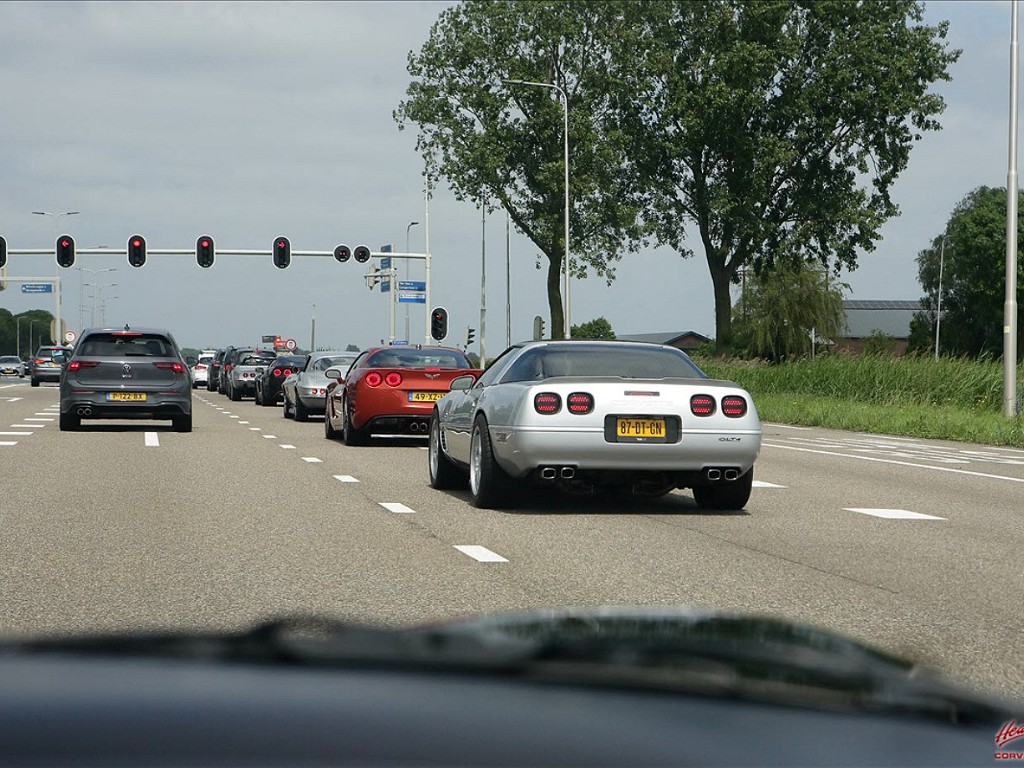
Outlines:
{"label": "thick pale metal pole rising from grass at far right", "polygon": [[1017,0],[1013,0],[1011,14],[1007,286],[1002,308],[1002,412],[1009,418],[1017,415]]}

